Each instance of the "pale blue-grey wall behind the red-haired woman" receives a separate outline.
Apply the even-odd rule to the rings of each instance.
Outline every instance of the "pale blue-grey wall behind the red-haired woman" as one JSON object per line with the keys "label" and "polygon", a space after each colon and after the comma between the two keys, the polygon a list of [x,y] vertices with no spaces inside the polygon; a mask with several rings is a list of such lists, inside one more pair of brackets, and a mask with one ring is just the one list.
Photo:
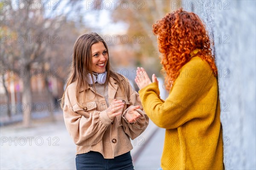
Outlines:
{"label": "pale blue-grey wall behind the red-haired woman", "polygon": [[183,0],[214,41],[226,169],[256,169],[256,1]]}

